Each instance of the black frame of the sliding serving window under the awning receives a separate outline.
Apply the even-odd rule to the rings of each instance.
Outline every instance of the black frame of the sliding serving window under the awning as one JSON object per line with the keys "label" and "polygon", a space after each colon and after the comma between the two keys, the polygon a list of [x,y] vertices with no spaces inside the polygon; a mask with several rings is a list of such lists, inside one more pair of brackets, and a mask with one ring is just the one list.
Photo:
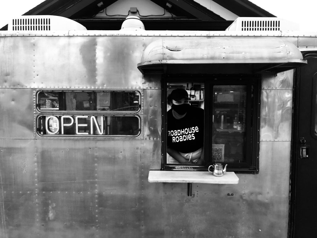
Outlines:
{"label": "black frame of the sliding serving window under the awning", "polygon": [[[166,113],[167,113],[167,84],[168,83],[204,83],[204,165],[166,164]],[[212,123],[212,90],[216,85],[247,85],[247,142],[245,162],[222,162],[228,164],[227,171],[236,173],[259,173],[259,138],[260,138],[260,85],[261,75],[165,75],[162,77],[162,163],[161,170],[197,170],[206,171],[211,162],[211,128]],[[250,129],[252,127],[252,132]]]}

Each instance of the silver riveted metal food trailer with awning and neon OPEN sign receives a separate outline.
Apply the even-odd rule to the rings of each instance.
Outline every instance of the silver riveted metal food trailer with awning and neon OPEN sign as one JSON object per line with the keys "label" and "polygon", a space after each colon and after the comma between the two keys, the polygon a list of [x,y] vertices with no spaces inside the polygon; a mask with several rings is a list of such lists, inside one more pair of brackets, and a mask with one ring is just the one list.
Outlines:
{"label": "silver riveted metal food trailer with awning and neon OPEN sign", "polygon": [[[0,32],[0,237],[313,237],[317,36],[287,24],[14,19]],[[195,117],[167,130],[177,88],[204,109],[202,164],[168,159],[169,139],[198,131]]]}

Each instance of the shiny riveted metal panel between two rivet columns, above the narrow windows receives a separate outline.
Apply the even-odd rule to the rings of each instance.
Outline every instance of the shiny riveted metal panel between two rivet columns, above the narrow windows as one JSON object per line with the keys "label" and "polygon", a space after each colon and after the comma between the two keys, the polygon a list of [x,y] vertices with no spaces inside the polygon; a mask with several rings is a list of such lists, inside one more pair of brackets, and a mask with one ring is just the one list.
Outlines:
{"label": "shiny riveted metal panel between two rivet columns, above the narrow windows", "polygon": [[[95,87],[94,37],[33,37],[35,76],[31,87]],[[51,47],[49,47],[51,46]]]}

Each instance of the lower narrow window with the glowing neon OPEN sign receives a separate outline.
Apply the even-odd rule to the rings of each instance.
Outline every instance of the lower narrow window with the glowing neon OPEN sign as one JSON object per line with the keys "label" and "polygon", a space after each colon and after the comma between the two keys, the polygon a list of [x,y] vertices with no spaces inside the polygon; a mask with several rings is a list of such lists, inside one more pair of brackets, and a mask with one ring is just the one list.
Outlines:
{"label": "lower narrow window with the glowing neon OPEN sign", "polygon": [[40,115],[42,136],[139,136],[138,116]]}

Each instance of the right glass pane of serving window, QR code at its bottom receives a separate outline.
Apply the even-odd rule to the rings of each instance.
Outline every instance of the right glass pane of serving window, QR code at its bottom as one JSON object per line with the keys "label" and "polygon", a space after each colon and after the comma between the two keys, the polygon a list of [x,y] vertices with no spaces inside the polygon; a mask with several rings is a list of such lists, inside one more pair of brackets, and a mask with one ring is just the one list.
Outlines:
{"label": "right glass pane of serving window, QR code at its bottom", "polygon": [[246,85],[213,86],[212,162],[245,162]]}

